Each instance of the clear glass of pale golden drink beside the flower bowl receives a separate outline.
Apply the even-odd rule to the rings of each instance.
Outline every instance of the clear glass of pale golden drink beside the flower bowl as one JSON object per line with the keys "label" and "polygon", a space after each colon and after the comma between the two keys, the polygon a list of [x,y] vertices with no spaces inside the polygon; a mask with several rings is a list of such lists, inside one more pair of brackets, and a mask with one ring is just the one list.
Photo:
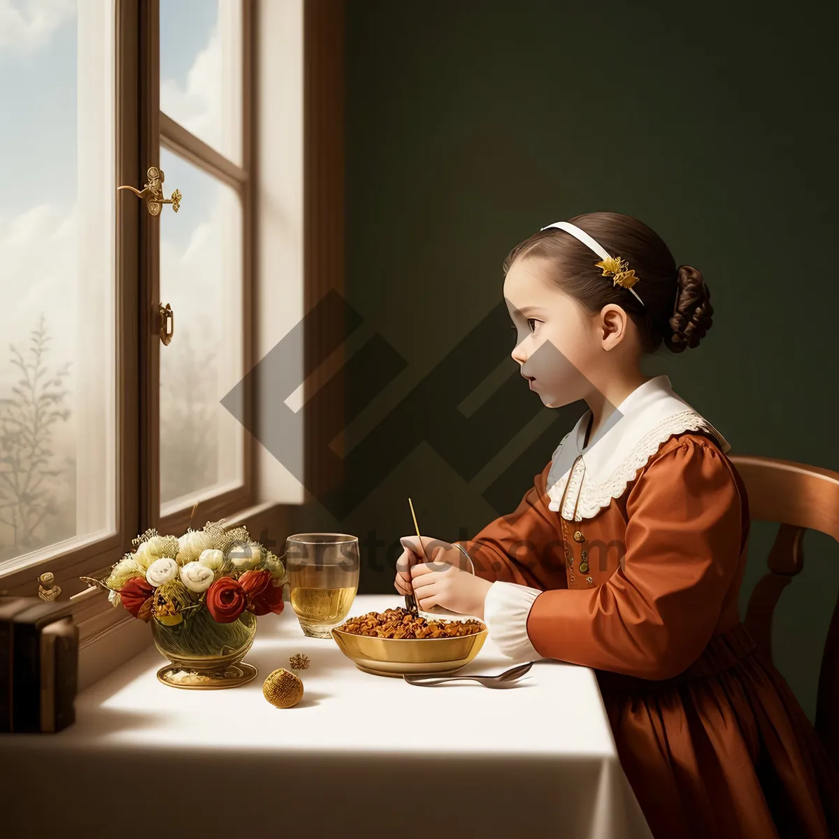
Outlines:
{"label": "clear glass of pale golden drink beside the flower bowl", "polygon": [[358,539],[346,533],[298,533],[285,542],[291,607],[311,638],[331,638],[358,591]]}

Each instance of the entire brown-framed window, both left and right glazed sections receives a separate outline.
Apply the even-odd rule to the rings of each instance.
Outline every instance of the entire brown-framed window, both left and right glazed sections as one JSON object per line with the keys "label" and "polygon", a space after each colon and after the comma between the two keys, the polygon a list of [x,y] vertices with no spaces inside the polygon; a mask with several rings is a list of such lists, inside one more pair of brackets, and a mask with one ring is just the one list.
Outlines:
{"label": "entire brown-framed window, both left and right glazed sections", "polygon": [[[147,527],[254,503],[220,404],[253,363],[253,3],[6,6],[0,589],[66,596]],[[153,166],[177,212],[117,190]]]}

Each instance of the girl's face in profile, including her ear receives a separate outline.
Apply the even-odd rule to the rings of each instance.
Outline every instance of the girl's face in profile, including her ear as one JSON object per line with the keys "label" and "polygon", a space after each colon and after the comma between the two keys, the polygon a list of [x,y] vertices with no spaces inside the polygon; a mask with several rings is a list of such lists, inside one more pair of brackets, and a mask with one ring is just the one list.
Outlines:
{"label": "girl's face in profile, including her ear", "polygon": [[549,278],[547,265],[517,259],[504,279],[504,300],[516,330],[513,359],[542,402],[560,408],[601,388],[605,356],[626,334],[628,316],[612,304],[587,312]]}

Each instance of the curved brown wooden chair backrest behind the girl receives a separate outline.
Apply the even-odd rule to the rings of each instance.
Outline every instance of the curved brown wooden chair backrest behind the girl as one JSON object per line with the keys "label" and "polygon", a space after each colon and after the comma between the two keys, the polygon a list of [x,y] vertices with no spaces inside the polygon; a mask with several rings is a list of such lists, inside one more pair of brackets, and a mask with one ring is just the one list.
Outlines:
{"label": "curved brown wooden chair backrest behind the girl", "polygon": [[[781,591],[804,566],[805,530],[819,530],[839,541],[839,473],[770,457],[732,456],[731,461],[746,485],[751,519],[780,525],[769,552],[769,573],[754,586],[743,621],[759,654],[771,662],[774,608]],[[839,601],[827,630],[816,698],[816,732],[839,765],[837,708]]]}

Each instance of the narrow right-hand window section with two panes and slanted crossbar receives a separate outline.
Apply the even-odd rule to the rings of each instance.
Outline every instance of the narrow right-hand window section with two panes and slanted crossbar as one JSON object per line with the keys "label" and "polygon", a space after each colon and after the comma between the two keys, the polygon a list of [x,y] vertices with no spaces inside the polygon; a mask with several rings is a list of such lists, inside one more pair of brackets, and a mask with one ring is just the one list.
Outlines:
{"label": "narrow right-hand window section with two panes and slanted crossbar", "polygon": [[159,165],[184,197],[178,213],[159,218],[159,300],[176,326],[171,343],[156,347],[159,481],[150,503],[172,532],[185,529],[196,503],[203,523],[253,498],[246,435],[220,402],[252,356],[250,5],[159,3]]}

